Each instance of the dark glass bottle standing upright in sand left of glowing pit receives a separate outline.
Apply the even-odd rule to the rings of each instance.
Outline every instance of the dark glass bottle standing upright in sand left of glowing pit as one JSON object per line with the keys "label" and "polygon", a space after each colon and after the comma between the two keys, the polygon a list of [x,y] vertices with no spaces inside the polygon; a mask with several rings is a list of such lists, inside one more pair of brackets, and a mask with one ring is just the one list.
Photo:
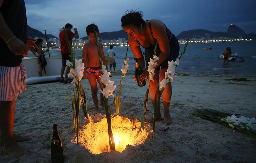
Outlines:
{"label": "dark glass bottle standing upright in sand left of glowing pit", "polygon": [[58,125],[53,125],[53,137],[51,143],[52,163],[64,163],[63,145],[59,137]]}

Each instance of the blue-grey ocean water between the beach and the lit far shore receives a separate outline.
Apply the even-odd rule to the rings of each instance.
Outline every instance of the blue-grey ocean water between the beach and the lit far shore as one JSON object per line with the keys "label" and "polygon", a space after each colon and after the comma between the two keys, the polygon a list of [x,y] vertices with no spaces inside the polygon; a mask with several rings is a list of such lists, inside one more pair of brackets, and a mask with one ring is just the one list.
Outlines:
{"label": "blue-grey ocean water between the beach and the lit far shore", "polygon": [[[225,42],[225,43],[189,43],[176,72],[188,73],[193,76],[205,76],[213,74],[230,74],[234,76],[256,75],[256,41]],[[212,50],[203,48],[212,47]],[[231,47],[232,54],[236,55],[235,61],[230,61],[228,65],[223,65],[222,56],[226,47]],[[122,69],[127,47],[113,47],[116,52],[116,70]],[[142,51],[144,49],[141,47]],[[180,52],[184,49],[184,44],[180,44]],[[76,50],[76,49],[75,49]],[[107,55],[109,47],[104,47],[104,55]],[[81,56],[82,52],[78,52]],[[50,51],[51,57],[61,57],[60,51]],[[35,57],[32,53],[28,57]],[[49,57],[46,53],[46,57]],[[135,70],[134,55],[128,48],[129,58],[128,71]],[[243,61],[244,60],[244,61]]]}

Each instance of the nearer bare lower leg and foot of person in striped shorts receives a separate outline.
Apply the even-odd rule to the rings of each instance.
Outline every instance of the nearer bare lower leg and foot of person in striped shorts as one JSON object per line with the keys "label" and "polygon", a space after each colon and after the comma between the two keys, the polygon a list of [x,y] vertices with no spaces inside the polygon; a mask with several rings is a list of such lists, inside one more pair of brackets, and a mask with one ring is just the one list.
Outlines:
{"label": "nearer bare lower leg and foot of person in striped shorts", "polygon": [[14,101],[0,101],[0,131],[4,140],[3,153],[6,155],[20,157],[22,155],[28,155],[30,150],[20,146],[13,134],[14,125]]}

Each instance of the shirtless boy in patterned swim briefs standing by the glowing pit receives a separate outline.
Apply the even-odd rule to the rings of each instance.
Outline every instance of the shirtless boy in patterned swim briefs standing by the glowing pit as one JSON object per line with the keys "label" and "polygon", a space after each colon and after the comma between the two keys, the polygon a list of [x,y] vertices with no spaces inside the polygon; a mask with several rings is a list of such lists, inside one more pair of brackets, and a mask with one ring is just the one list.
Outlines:
{"label": "shirtless boy in patterned swim briefs standing by the glowing pit", "polygon": [[[86,27],[86,33],[89,38],[89,42],[84,44],[83,48],[83,62],[84,62],[84,79],[88,79],[90,86],[91,86],[91,96],[92,100],[95,106],[95,113],[100,112],[99,106],[98,106],[98,87],[97,87],[97,82],[100,84],[101,90],[103,90],[103,85],[101,84],[100,76],[101,76],[101,67],[100,67],[100,56],[98,55],[98,50],[97,46],[95,44],[95,38],[94,38],[94,28],[96,31],[97,39],[98,39],[98,33],[99,29],[98,26],[96,26],[94,23],[88,25]],[[101,48],[101,54],[102,54],[102,61],[103,64],[107,66],[107,61],[104,57],[104,52],[103,52],[103,46],[101,43],[98,43],[98,45]],[[108,68],[107,68],[108,70]],[[101,93],[100,96],[100,105],[104,107],[104,99],[103,99],[103,94]]]}

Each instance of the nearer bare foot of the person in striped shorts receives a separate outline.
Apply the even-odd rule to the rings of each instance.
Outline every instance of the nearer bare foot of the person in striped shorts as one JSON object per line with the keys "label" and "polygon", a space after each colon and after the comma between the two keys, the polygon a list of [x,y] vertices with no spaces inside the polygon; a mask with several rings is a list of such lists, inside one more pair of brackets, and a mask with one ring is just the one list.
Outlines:
{"label": "nearer bare foot of the person in striped shorts", "polygon": [[4,146],[3,153],[10,156],[20,157],[22,155],[30,155],[32,152],[23,148],[18,143],[14,143],[9,146]]}

